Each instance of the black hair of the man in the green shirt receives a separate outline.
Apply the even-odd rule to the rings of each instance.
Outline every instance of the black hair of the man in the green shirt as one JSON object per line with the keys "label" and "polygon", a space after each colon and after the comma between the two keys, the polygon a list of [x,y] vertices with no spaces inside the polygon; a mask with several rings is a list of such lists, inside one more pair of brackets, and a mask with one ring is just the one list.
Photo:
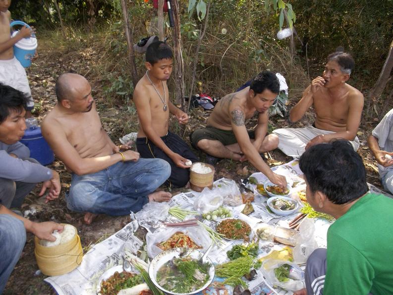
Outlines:
{"label": "black hair of the man in the green shirt", "polygon": [[334,204],[353,201],[368,191],[363,160],[346,140],[308,148],[299,167],[311,192],[323,193]]}

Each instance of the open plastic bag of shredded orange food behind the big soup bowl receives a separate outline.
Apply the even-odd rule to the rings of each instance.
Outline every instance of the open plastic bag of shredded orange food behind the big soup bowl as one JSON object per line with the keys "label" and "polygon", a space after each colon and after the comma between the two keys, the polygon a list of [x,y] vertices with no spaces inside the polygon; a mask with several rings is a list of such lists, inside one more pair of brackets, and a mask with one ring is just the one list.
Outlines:
{"label": "open plastic bag of shredded orange food behind the big soup bowl", "polygon": [[[191,241],[190,241],[191,240]],[[166,243],[168,242],[168,243]],[[212,244],[212,239],[204,227],[188,226],[188,227],[171,227],[159,228],[154,233],[146,235],[147,254],[153,258],[161,253],[164,248],[175,248],[176,246],[186,245],[187,248],[193,246],[205,252]],[[160,247],[161,246],[161,247]]]}

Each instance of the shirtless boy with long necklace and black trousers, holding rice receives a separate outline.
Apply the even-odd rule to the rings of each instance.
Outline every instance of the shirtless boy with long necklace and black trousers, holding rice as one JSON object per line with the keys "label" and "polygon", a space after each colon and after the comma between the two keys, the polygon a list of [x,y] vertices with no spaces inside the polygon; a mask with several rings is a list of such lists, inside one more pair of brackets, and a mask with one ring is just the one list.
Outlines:
{"label": "shirtless boy with long necklace and black trousers, holding rice", "polygon": [[146,74],[135,86],[133,100],[138,111],[139,129],[136,148],[142,158],[160,158],[171,167],[169,187],[184,187],[189,179],[188,160],[198,161],[187,144],[168,131],[169,113],[180,124],[188,122],[188,115],[169,100],[167,80],[172,72],[173,53],[161,41],[146,51]]}

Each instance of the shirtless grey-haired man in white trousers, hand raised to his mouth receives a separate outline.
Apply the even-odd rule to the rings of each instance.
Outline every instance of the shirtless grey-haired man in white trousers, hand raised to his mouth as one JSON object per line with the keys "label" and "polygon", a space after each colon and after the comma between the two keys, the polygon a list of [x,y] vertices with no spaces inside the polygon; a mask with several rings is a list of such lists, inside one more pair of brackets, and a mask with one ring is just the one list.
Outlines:
{"label": "shirtless grey-haired man in white trousers, hand raised to his mouth", "polygon": [[348,53],[337,51],[328,56],[322,77],[311,82],[289,113],[290,122],[296,122],[314,106],[313,126],[273,131],[279,137],[278,148],[283,153],[298,157],[311,146],[339,138],[350,141],[355,151],[359,148],[356,133],[364,98],[360,91],[345,83],[353,67],[354,61]]}

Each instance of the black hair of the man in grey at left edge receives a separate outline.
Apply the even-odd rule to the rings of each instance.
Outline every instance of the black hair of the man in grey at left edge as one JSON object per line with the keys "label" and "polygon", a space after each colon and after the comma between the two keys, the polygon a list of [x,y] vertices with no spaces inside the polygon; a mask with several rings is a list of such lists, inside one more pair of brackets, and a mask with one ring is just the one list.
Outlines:
{"label": "black hair of the man in grey at left edge", "polygon": [[26,109],[28,100],[23,92],[0,83],[0,124],[7,119],[11,111],[21,113]]}

